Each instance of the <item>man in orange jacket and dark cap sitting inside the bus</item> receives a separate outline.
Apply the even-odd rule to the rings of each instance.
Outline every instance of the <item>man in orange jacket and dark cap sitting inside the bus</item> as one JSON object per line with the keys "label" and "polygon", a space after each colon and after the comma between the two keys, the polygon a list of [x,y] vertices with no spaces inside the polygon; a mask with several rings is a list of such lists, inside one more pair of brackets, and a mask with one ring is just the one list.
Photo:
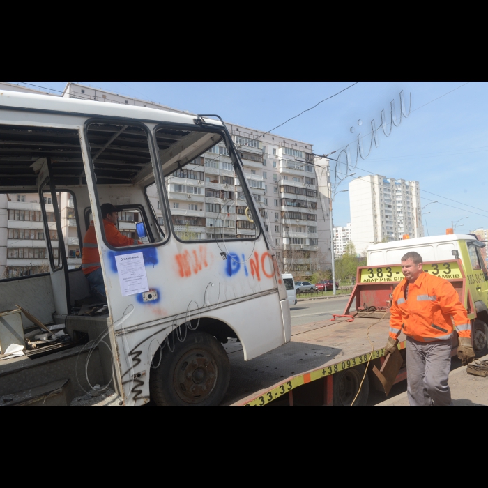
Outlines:
{"label": "man in orange jacket and dark cap sitting inside the bus", "polygon": [[[123,236],[119,232],[119,229],[116,227],[118,215],[116,208],[112,204],[102,204],[100,211],[102,212],[103,229],[107,243],[114,247],[142,244],[137,239]],[[100,254],[98,253],[93,220],[90,222],[90,226],[83,239],[82,270],[89,282],[91,294],[98,300],[107,302],[107,293],[105,293],[105,283],[103,282]]]}

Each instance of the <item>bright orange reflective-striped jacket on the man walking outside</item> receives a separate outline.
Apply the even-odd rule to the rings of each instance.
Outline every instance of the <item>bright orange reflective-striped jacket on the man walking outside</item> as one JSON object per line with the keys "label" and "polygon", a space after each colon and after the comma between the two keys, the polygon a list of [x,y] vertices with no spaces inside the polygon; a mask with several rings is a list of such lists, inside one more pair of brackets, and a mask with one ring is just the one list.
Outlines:
{"label": "bright orange reflective-striped jacket on the man walking outside", "polygon": [[415,283],[404,279],[393,291],[390,310],[390,337],[397,339],[403,328],[405,335],[420,342],[452,337],[454,326],[459,337],[471,337],[468,312],[459,301],[457,291],[447,280],[421,273]]}

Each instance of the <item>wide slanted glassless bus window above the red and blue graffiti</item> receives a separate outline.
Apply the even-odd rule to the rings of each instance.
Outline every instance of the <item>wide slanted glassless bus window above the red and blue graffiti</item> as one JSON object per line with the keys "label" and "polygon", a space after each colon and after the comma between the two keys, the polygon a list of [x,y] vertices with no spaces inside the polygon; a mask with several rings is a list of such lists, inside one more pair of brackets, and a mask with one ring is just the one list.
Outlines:
{"label": "wide slanted glassless bus window above the red and blue graffiti", "polygon": [[[155,136],[162,167],[168,166],[165,187],[176,238],[180,241],[256,238],[258,231],[250,201],[253,197],[257,202],[263,200],[263,177],[252,176],[253,195],[246,195],[247,189],[242,188],[229,151],[218,134],[160,128]],[[210,147],[207,144],[203,153],[189,153],[183,158],[184,140],[205,139],[215,144]],[[174,141],[179,141],[178,147],[183,151],[178,155],[179,166],[171,167],[170,148]]]}

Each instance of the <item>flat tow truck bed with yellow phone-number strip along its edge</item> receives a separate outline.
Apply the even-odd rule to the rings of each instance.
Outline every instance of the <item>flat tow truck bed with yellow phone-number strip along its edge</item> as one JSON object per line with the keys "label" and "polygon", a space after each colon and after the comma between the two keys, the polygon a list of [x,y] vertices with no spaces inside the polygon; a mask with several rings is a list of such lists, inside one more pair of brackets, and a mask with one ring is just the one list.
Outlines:
{"label": "flat tow truck bed with yellow phone-number strip along its edge", "polygon": [[[374,346],[373,363],[384,356],[389,318],[384,310],[370,315],[356,316],[352,322],[349,317],[337,317],[293,327],[291,342],[250,361],[243,360],[238,342],[225,344],[231,383],[223,404],[332,404],[331,379],[338,372],[367,364],[372,351],[369,340]],[[405,336],[399,340],[404,349]]]}

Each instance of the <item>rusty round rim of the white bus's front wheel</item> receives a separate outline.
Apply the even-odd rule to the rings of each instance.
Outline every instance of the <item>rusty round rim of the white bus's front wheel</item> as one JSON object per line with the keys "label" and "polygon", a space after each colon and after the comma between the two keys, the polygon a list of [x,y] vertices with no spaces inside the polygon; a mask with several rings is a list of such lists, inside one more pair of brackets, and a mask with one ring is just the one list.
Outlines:
{"label": "rusty round rim of the white bus's front wheel", "polygon": [[198,404],[211,395],[218,378],[215,358],[205,349],[192,349],[178,360],[174,388],[184,402]]}

